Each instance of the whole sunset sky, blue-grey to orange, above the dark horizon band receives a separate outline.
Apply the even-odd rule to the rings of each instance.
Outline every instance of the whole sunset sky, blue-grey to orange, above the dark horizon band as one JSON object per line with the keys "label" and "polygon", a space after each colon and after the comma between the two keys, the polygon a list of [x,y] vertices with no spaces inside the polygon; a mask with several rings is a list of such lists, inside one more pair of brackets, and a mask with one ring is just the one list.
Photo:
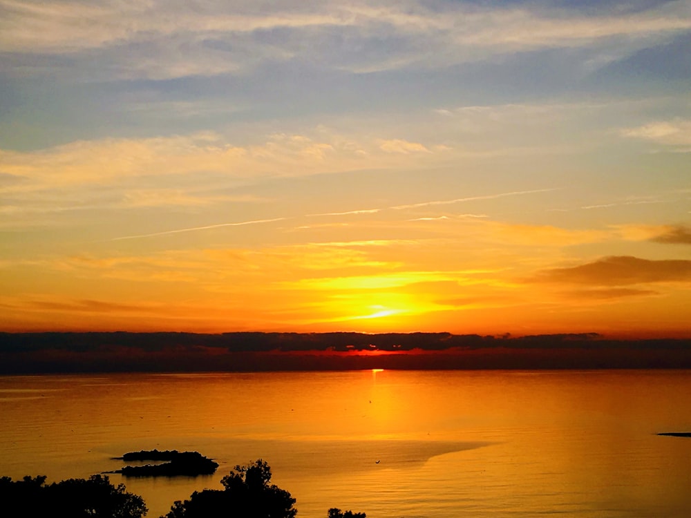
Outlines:
{"label": "whole sunset sky, blue-grey to orange, above the dark horizon band", "polygon": [[0,0],[2,331],[690,321],[690,1]]}

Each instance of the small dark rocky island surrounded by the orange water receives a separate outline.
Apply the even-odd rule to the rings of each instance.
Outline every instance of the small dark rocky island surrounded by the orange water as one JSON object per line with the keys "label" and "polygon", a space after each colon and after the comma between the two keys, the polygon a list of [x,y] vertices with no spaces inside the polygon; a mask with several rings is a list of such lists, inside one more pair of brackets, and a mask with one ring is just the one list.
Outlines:
{"label": "small dark rocky island surrounded by the orange water", "polygon": [[125,462],[158,461],[158,464],[144,466],[124,466],[111,473],[121,473],[125,477],[196,477],[202,474],[214,474],[218,463],[199,452],[178,452],[178,450],[141,450],[129,452],[122,457],[115,457]]}

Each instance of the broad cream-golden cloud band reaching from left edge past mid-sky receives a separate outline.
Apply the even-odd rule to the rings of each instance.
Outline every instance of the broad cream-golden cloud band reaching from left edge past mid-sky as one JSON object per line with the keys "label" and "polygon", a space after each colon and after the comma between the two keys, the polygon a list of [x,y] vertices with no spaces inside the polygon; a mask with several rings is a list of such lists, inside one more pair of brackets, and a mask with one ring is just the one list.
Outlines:
{"label": "broad cream-golden cloud band reaching from left edge past mid-sky", "polygon": [[[218,193],[218,187],[395,169],[415,160],[407,153],[426,151],[422,144],[404,140],[361,137],[356,142],[323,128],[313,133],[276,133],[243,145],[207,132],[83,140],[37,151],[0,149],[0,171],[12,180],[0,185],[0,213],[23,218],[95,208],[194,208],[261,201],[252,195]],[[433,159],[433,153],[415,155]]]}

